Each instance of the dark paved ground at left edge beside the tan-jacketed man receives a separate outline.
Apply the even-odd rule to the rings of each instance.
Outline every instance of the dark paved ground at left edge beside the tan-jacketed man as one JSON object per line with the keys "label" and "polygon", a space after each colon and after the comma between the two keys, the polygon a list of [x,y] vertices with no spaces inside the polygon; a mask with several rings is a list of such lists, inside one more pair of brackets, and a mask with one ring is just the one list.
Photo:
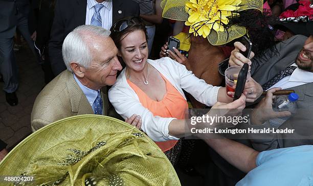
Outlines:
{"label": "dark paved ground at left edge beside the tan-jacketed man", "polygon": [[[0,91],[0,139],[8,144],[8,149],[31,134],[30,116],[37,94],[44,86],[43,72],[26,43],[15,52],[19,71],[18,105],[11,107]],[[1,89],[3,83],[0,83]]]}

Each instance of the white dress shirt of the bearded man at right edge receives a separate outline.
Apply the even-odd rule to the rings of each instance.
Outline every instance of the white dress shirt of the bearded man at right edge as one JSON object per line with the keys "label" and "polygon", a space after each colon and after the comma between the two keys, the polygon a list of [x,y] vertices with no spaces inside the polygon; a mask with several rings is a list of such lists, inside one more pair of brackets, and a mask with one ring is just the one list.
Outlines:
{"label": "white dress shirt of the bearded man at right edge", "polygon": [[[293,63],[290,66],[298,67],[296,63]],[[281,89],[288,89],[291,87],[297,87],[297,86],[304,85],[307,83],[312,83],[312,82],[313,82],[313,72],[296,68],[291,75],[280,79],[279,82],[277,82],[275,85],[273,85],[269,89],[272,89],[274,87],[281,87]]]}

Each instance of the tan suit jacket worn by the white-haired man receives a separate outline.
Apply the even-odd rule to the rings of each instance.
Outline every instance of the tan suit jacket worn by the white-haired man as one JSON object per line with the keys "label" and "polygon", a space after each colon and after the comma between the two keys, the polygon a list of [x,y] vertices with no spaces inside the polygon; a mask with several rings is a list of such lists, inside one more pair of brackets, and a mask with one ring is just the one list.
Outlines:
{"label": "tan suit jacket worn by the white-haired man", "polygon": [[[106,87],[102,88],[101,97],[103,115],[122,119],[109,103]],[[82,114],[94,114],[94,111],[76,83],[73,73],[64,70],[38,94],[31,114],[32,130],[36,131],[60,119]]]}

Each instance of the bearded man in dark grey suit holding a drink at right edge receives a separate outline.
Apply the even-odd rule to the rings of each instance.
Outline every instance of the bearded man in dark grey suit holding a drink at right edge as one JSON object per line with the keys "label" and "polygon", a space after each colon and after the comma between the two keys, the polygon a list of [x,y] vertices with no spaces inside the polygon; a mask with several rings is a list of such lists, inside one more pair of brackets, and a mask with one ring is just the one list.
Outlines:
{"label": "bearded man in dark grey suit holding a drink at right edge", "polygon": [[[267,50],[261,57],[251,59],[252,77],[262,85],[264,90],[281,87],[295,90],[299,95],[296,101],[297,113],[278,127],[278,129],[295,129],[295,132],[261,134],[262,136],[255,139],[265,140],[252,140],[254,149],[258,151],[313,144],[311,132],[313,130],[311,125],[313,120],[311,114],[313,111],[313,22],[306,23],[306,30],[309,33],[308,38],[302,35],[293,36],[279,43],[276,46],[277,51]],[[239,53],[239,49],[243,49],[244,46],[235,43],[235,47],[229,64],[233,66],[247,63],[249,59]],[[284,77],[281,76],[278,79],[277,74],[291,69],[290,67],[293,67],[292,71],[288,70],[290,74],[285,73]],[[274,77],[277,77],[276,82],[272,81]],[[258,108],[271,108],[272,101],[269,100],[272,99],[262,100]],[[251,124],[254,128],[271,127],[270,122],[265,121],[277,115],[274,111],[262,112],[258,118],[252,117]]]}

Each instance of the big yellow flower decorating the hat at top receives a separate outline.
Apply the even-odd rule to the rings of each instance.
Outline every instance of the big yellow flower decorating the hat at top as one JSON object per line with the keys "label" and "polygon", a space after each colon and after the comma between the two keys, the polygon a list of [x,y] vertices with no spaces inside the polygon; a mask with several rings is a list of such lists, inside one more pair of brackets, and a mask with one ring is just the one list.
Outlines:
{"label": "big yellow flower decorating the hat at top", "polygon": [[232,11],[238,10],[241,0],[190,0],[186,3],[189,14],[186,25],[190,25],[189,33],[206,38],[211,29],[224,31],[229,16],[236,16]]}

